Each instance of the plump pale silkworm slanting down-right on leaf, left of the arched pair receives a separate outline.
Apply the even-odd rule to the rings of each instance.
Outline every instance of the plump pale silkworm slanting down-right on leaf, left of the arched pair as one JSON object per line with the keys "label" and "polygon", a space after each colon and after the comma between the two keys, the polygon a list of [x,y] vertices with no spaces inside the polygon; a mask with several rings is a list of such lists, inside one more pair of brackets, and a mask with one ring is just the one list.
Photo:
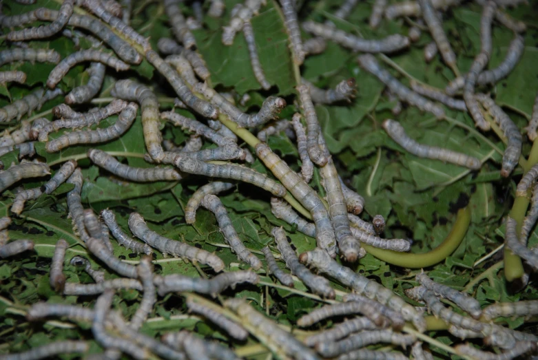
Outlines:
{"label": "plump pale silkworm slanting down-right on leaf, left of the arched pair", "polygon": [[200,264],[207,264],[216,272],[222,271],[224,268],[223,260],[220,260],[217,255],[196,248],[195,246],[185,244],[184,242],[168,239],[167,237],[158,235],[158,233],[149,230],[146,222],[138,213],[131,213],[129,216],[129,229],[131,229],[136,237],[143,240],[143,242],[149,246],[152,246],[152,248],[161,251],[163,255],[170,254],[178,257],[185,257],[191,261],[200,262]]}

